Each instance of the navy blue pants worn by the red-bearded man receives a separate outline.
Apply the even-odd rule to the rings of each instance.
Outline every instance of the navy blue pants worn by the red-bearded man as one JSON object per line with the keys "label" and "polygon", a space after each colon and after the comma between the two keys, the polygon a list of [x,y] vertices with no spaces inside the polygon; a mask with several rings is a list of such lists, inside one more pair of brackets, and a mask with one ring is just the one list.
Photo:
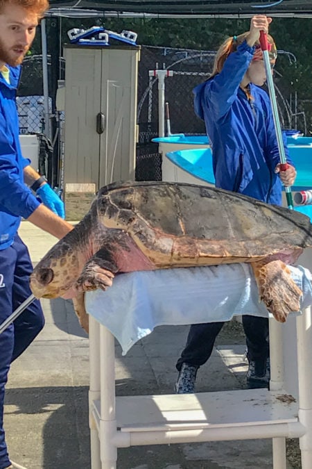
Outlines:
{"label": "navy blue pants worn by the red-bearded man", "polygon": [[[31,295],[29,276],[32,271],[28,249],[17,235],[10,247],[0,251],[0,324]],[[24,352],[43,326],[42,308],[35,300],[0,334],[0,469],[10,466],[3,430],[4,388],[10,364]]]}

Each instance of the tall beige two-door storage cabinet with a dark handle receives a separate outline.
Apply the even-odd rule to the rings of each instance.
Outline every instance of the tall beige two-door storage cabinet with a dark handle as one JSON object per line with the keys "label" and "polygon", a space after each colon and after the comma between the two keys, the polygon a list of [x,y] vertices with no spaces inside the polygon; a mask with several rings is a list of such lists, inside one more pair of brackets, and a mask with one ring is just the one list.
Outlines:
{"label": "tall beige two-door storage cabinet with a dark handle", "polygon": [[139,47],[65,47],[64,187],[135,180]]}

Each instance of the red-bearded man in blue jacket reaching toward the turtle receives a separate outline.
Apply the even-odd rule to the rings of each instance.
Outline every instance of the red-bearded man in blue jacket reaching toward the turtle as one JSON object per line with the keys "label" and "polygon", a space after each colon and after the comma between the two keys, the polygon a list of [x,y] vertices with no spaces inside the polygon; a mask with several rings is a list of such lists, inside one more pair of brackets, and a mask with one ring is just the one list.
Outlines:
{"label": "red-bearded man in blue jacket reaching toward the turtle", "polygon": [[[71,224],[62,220],[62,201],[33,170],[30,161],[23,158],[19,147],[15,99],[20,64],[46,8],[47,0],[0,0],[0,324],[31,295],[31,259],[17,233],[21,217],[57,238],[72,229]],[[38,201],[35,192],[46,206]],[[18,467],[8,457],[3,430],[3,401],[10,364],[43,326],[42,308],[35,300],[0,334],[0,469]]]}

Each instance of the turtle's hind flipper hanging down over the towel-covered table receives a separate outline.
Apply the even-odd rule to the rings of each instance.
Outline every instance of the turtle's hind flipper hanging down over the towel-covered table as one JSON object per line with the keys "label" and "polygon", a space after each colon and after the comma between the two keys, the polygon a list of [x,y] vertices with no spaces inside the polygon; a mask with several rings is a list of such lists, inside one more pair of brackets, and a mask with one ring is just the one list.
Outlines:
{"label": "turtle's hind flipper hanging down over the towel-covered table", "polygon": [[285,322],[289,313],[300,311],[302,290],[291,278],[287,265],[279,260],[266,264],[252,263],[260,299],[279,322]]}

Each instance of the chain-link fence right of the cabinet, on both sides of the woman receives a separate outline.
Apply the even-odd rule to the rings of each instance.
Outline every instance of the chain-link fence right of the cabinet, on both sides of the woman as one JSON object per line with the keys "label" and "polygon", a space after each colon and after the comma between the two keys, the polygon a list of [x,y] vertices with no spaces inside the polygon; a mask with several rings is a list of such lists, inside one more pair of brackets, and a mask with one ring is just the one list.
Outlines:
{"label": "chain-link fence right of the cabinet, on both sides of the woman", "polygon": [[[312,133],[311,96],[295,90],[297,60],[289,51],[280,50],[274,70],[277,107],[283,129],[298,129],[304,135]],[[205,134],[205,124],[193,111],[193,88],[209,78],[214,64],[214,51],[172,49],[170,47],[142,47],[139,64],[137,179],[161,179],[161,155],[158,136],[158,79],[149,76],[150,70],[167,69],[173,72],[165,79],[165,101],[170,108],[172,133]],[[307,58],[308,60],[308,58]],[[293,74],[292,74],[293,71]],[[292,76],[293,75],[293,76]],[[310,89],[308,86],[306,89]]]}

